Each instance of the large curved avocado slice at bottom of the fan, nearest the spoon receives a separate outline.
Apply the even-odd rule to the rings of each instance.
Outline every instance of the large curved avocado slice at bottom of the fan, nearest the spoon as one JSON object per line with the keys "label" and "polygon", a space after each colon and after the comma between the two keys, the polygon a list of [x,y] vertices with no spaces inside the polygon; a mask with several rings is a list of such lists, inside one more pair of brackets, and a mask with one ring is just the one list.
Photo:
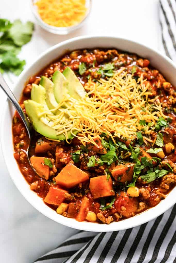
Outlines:
{"label": "large curved avocado slice at bottom of the fan, nearest the spoon", "polygon": [[[47,117],[40,117],[39,114],[44,111],[44,106],[34,100],[25,100],[26,113],[33,125],[33,128],[40,134],[54,140],[65,140],[64,134],[57,135],[58,131],[51,127],[52,121]],[[74,131],[77,134],[78,131]],[[74,135],[68,132],[68,138],[73,139]]]}

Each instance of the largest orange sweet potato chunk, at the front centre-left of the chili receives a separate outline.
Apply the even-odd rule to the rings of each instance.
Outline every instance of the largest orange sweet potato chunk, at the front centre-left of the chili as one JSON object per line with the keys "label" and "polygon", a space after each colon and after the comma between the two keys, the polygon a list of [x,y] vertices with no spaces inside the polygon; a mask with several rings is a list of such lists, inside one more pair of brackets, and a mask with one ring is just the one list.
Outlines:
{"label": "largest orange sweet potato chunk, at the front centre-left of the chili", "polygon": [[71,188],[89,180],[89,176],[70,162],[55,177],[55,180],[56,184],[64,186],[65,188]]}

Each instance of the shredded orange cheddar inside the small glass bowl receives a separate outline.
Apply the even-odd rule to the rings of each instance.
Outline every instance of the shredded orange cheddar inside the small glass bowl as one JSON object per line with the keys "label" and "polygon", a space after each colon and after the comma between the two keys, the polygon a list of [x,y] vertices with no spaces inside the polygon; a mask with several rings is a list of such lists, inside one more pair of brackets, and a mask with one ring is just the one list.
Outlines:
{"label": "shredded orange cheddar inside the small glass bowl", "polygon": [[81,22],[86,13],[85,0],[39,0],[35,2],[41,19],[55,27],[70,27]]}

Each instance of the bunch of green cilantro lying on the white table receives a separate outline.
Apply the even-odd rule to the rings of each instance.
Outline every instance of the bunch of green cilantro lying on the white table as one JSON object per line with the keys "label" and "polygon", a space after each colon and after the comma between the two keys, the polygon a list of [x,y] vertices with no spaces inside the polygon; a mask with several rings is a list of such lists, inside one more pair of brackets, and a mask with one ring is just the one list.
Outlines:
{"label": "bunch of green cilantro lying on the white table", "polygon": [[17,54],[21,47],[31,40],[34,24],[17,19],[11,23],[8,19],[0,19],[0,72],[11,71],[19,75],[25,65]]}

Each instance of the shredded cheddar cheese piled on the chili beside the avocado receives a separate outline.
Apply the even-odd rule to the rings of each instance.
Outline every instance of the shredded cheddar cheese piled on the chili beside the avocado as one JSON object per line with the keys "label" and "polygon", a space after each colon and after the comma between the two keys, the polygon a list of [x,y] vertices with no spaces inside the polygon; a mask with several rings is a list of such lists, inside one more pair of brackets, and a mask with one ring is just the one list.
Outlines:
{"label": "shredded cheddar cheese piled on the chili beside the avocado", "polygon": [[[58,104],[56,109],[61,110],[59,115],[49,116],[49,125],[63,134],[68,141],[68,132],[78,137],[85,145],[92,144],[93,136],[102,132],[118,138],[136,138],[136,132],[143,129],[144,142],[152,142],[150,134],[153,131],[159,117],[167,118],[163,114],[158,96],[151,98],[152,94],[142,74],[137,83],[131,74],[127,74],[125,68],[118,70],[108,80],[100,79],[92,82],[89,79],[85,84],[87,96],[80,101],[69,96]],[[62,108],[62,106],[66,108]],[[56,109],[53,109],[56,110]],[[145,120],[150,125],[141,125],[140,120]],[[78,131],[75,135],[74,131]]]}

